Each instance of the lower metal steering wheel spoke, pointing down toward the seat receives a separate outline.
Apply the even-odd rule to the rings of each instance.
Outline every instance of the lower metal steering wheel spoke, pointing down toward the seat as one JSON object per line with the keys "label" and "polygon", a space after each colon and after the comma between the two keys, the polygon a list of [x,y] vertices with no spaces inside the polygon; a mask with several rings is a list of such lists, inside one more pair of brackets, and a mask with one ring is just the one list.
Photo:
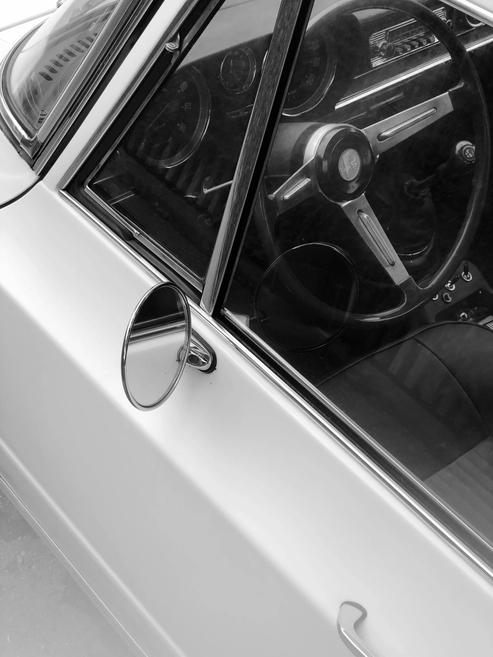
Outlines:
{"label": "lower metal steering wheel spoke, pointing down toward the seat", "polygon": [[[365,194],[358,196],[353,201],[341,203],[340,207],[392,281],[399,286],[402,286],[408,279],[412,281],[406,267],[385,235]],[[412,285],[406,283],[406,287],[411,289]]]}

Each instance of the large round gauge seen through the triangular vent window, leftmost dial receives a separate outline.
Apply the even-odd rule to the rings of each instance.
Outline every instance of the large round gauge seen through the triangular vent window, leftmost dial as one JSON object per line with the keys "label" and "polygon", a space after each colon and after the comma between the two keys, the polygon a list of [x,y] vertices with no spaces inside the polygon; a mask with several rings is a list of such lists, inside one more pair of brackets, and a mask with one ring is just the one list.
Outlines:
{"label": "large round gauge seen through the triangular vent window, leftmost dial", "polygon": [[138,154],[147,164],[172,167],[197,149],[210,117],[210,94],[204,78],[191,66],[178,70],[158,91],[141,123]]}

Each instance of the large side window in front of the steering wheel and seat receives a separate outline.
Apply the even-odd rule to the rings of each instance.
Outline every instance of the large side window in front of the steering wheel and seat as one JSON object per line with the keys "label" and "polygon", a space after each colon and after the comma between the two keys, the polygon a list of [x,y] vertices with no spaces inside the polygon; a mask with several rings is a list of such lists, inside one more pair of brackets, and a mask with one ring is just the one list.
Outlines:
{"label": "large side window in front of the steering wheel and seat", "polygon": [[223,313],[493,545],[493,31],[426,4],[317,4]]}

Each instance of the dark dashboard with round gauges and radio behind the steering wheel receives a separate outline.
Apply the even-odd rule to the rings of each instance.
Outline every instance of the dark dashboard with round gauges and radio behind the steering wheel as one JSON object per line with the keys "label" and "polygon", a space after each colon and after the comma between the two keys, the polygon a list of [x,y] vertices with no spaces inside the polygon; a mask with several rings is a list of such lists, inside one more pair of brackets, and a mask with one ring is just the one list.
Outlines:
{"label": "dark dashboard with round gauges and radio behind the steering wheel", "polygon": [[[465,45],[493,37],[493,30],[443,3],[428,3]],[[199,196],[227,183],[235,168],[262,74],[269,35],[181,66],[141,116],[130,150],[149,166],[172,168],[200,145],[223,162]],[[327,120],[337,106],[403,72],[446,58],[436,36],[406,14],[369,9],[336,23],[322,11],[308,25],[285,98],[283,120]],[[229,166],[231,165],[231,166]],[[228,178],[225,180],[224,178]]]}

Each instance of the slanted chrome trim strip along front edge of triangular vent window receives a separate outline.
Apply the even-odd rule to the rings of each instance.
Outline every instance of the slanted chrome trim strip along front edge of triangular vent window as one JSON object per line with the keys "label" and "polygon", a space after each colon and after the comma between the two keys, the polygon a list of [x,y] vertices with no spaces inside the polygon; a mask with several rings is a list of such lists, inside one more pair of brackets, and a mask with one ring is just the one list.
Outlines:
{"label": "slanted chrome trim strip along front edge of triangular vent window", "polygon": [[[139,68],[139,72],[137,74],[135,74],[135,76],[133,76],[133,78],[131,79],[128,87],[126,87],[126,90],[123,93],[123,95],[120,96],[120,98],[117,99],[117,101],[114,103],[114,105],[112,106],[112,108],[110,109],[108,114],[106,114],[104,120],[99,124],[96,131],[93,133],[93,135],[91,135],[91,138],[89,139],[89,141],[87,141],[85,146],[82,148],[82,150],[80,151],[80,153],[78,154],[78,156],[76,157],[74,162],[72,162],[72,164],[70,165],[68,170],[64,173],[64,175],[62,176],[62,178],[60,179],[60,181],[57,185],[58,189],[64,189],[70,183],[70,181],[72,181],[72,178],[74,177],[74,175],[76,175],[76,173],[82,167],[82,165],[87,160],[87,158],[89,158],[89,155],[97,147],[97,145],[99,144],[101,139],[103,139],[106,131],[108,131],[108,129],[110,128],[110,125],[113,124],[113,122],[117,118],[118,114],[120,114],[120,112],[122,111],[124,106],[127,104],[127,102],[129,101],[129,99],[131,98],[133,93],[135,93],[135,90],[140,85],[141,81],[145,78],[145,76],[147,76],[147,74],[149,73],[151,68],[154,66],[154,64],[156,63],[156,61],[160,57],[160,55],[162,55],[162,52],[166,48],[166,43],[168,43],[168,41],[170,41],[170,39],[172,39],[174,37],[174,35],[179,31],[179,29],[181,28],[181,25],[183,24],[183,22],[185,21],[187,16],[189,16],[190,12],[194,9],[195,5],[197,5],[199,3],[199,1],[200,0],[185,0],[185,2],[183,3],[183,5],[181,7],[181,11],[179,12],[179,14],[177,14],[176,18],[174,19],[174,21],[172,22],[172,24],[170,25],[168,30],[166,30],[166,32],[164,32],[162,37],[159,39],[158,43],[156,43],[156,45],[153,48],[153,51],[151,52],[149,57],[147,57],[147,59],[145,60],[145,63],[143,64],[143,66],[141,66]],[[214,10],[216,5],[218,5],[218,3],[220,1],[222,1],[222,0],[211,0],[210,8],[208,8],[208,10],[202,16],[203,20],[206,20],[206,17],[210,14],[211,11]],[[195,32],[197,32],[197,30],[199,30],[200,26],[203,23],[203,20],[199,20],[199,24],[193,30],[193,34],[190,34],[190,36],[188,38],[185,38],[182,41],[182,44],[181,44],[181,50],[182,51],[185,49],[185,47],[187,46],[189,41],[193,38],[193,35],[195,35]],[[166,68],[166,71],[163,72],[163,75],[160,76],[160,79],[164,78],[164,76],[166,76],[168,74],[169,68],[170,67]],[[137,110],[137,112],[135,112],[135,115],[137,115],[139,113],[139,111],[141,110],[143,104],[145,104],[146,101],[147,101],[147,99],[145,99],[145,101],[143,101],[141,103],[141,105],[139,106],[139,110]],[[124,129],[122,130],[122,133],[124,133],[128,129],[129,125],[131,125],[132,122],[133,122],[133,117],[132,117],[132,120],[129,122],[129,124],[124,127]],[[120,137],[118,137],[118,139],[120,139]],[[108,148],[108,153],[106,154],[106,157],[110,155],[111,148]],[[105,157],[105,159],[106,159],[106,157]]]}

